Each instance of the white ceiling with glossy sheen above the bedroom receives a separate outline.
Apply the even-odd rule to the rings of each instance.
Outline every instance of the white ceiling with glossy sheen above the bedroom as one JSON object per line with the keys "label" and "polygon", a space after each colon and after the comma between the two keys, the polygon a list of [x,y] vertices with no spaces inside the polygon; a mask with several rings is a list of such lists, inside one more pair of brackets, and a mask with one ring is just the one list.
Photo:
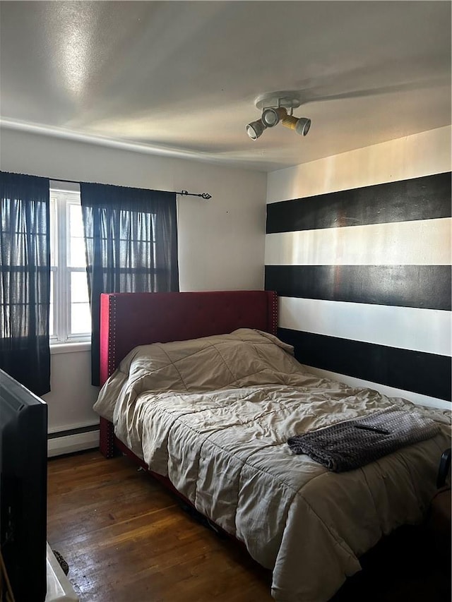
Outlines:
{"label": "white ceiling with glossy sheen above the bedroom", "polygon": [[[1,1],[0,20],[7,127],[270,171],[451,123],[449,1]],[[246,136],[275,90],[300,90],[306,138]]]}

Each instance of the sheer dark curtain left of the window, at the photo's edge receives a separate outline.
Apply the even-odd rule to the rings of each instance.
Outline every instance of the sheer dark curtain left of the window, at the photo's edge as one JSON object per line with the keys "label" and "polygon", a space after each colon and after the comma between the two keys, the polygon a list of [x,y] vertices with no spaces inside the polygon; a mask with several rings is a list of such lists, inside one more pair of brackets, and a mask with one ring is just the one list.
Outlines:
{"label": "sheer dark curtain left of the window, at the photo's edge", "polygon": [[0,368],[50,390],[49,179],[0,171]]}

